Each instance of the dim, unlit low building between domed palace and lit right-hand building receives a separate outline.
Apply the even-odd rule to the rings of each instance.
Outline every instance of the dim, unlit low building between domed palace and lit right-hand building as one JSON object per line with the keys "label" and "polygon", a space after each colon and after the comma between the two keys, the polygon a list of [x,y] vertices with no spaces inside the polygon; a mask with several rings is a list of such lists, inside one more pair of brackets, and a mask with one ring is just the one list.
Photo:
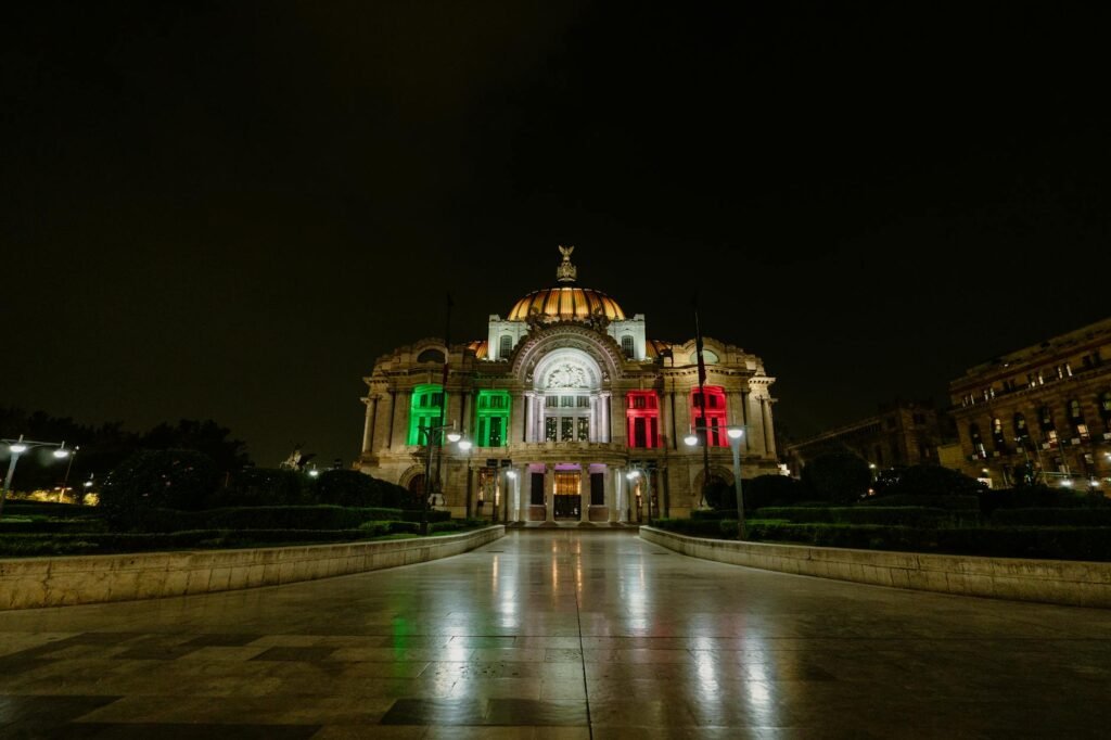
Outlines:
{"label": "dim, unlit low building between domed palace and lit right-hand building", "polygon": [[937,463],[944,423],[930,401],[881,403],[875,416],[791,442],[787,458],[795,474],[828,452],[852,452],[877,468]]}

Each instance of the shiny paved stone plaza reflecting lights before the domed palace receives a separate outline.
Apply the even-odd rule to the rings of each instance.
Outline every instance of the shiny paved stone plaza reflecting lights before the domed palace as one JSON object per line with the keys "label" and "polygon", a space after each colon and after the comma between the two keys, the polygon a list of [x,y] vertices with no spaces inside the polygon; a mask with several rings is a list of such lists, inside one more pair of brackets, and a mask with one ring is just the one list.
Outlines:
{"label": "shiny paved stone plaza reflecting lights before the domed palace", "polygon": [[0,612],[3,738],[1107,737],[1109,697],[1109,611],[763,572],[629,532]]}

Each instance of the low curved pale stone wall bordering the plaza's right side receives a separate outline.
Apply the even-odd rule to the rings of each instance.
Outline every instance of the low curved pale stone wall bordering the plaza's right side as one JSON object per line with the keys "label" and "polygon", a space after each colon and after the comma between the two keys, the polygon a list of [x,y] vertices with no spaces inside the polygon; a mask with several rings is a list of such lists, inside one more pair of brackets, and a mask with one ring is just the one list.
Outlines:
{"label": "low curved pale stone wall bordering the plaza's right side", "polygon": [[641,527],[649,542],[734,566],[960,596],[1111,608],[1111,563],[708,540]]}

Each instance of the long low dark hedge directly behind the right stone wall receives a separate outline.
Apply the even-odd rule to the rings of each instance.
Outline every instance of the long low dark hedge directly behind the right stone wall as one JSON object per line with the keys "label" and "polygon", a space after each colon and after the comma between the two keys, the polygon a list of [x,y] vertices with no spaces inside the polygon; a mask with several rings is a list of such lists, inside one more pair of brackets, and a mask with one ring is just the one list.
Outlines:
{"label": "long low dark hedge directly behind the right stone wall", "polygon": [[1108,527],[963,527],[921,529],[874,524],[794,524],[753,521],[755,541],[997,558],[1111,560]]}

